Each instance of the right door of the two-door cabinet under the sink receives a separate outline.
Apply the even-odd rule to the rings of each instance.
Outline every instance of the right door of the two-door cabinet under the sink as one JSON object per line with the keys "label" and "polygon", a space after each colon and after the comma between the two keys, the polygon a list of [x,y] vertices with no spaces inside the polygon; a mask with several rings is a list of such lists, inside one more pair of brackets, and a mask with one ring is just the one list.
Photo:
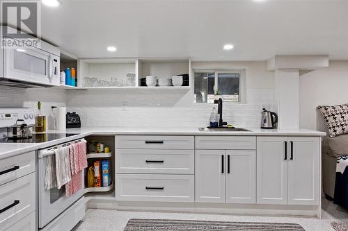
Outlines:
{"label": "right door of the two-door cabinet under the sink", "polygon": [[256,151],[226,150],[226,203],[256,203]]}

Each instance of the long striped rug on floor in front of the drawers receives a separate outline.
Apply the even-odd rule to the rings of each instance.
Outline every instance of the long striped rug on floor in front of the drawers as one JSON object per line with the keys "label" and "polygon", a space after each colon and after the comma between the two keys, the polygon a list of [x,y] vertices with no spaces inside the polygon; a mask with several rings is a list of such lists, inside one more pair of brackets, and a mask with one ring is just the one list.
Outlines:
{"label": "long striped rug on floor in front of the drawers", "polygon": [[254,223],[223,221],[184,221],[131,219],[124,231],[197,231],[197,230],[267,230],[267,231],[303,231],[301,225],[294,223]]}

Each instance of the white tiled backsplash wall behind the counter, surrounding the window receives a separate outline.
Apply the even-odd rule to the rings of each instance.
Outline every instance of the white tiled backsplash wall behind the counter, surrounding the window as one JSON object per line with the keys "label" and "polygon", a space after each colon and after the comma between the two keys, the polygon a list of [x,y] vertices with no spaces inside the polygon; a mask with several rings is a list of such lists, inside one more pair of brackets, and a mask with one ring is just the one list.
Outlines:
{"label": "white tiled backsplash wall behind the counter, surrounding the window", "polygon": [[[273,108],[273,73],[266,62],[192,62],[195,69],[246,69],[244,104],[224,103],[223,119],[237,127],[260,126],[262,105]],[[67,105],[81,116],[82,126],[207,126],[214,105],[193,103],[193,89],[63,91],[60,89],[0,89],[0,107],[36,108]],[[126,110],[122,102],[127,102]],[[216,105],[215,105],[216,106]]]}

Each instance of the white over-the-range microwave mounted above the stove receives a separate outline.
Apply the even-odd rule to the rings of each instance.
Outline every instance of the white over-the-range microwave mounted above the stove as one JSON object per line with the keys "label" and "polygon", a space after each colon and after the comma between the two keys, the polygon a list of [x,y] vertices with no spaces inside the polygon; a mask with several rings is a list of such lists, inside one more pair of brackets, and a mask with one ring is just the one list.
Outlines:
{"label": "white over-the-range microwave mounted above the stove", "polygon": [[[6,38],[14,40],[13,38]],[[59,85],[60,51],[41,41],[40,49],[1,49],[0,85],[13,87],[53,87]]]}

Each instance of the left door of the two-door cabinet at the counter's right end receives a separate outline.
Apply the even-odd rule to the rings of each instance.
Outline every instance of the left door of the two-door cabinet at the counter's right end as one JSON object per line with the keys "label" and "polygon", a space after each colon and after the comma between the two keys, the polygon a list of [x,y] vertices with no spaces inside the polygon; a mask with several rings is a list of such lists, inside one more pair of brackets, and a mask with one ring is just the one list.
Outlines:
{"label": "left door of the two-door cabinet at the counter's right end", "polygon": [[287,204],[287,137],[258,137],[258,203]]}

